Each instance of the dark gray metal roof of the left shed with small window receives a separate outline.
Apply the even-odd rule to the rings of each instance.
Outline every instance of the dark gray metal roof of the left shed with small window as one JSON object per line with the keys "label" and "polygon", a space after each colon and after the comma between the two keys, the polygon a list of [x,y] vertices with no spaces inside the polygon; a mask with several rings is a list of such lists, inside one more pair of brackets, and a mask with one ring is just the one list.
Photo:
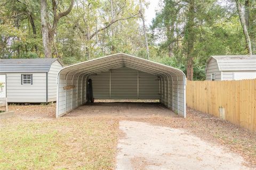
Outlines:
{"label": "dark gray metal roof of the left shed with small window", "polygon": [[49,72],[57,58],[1,59],[0,73]]}

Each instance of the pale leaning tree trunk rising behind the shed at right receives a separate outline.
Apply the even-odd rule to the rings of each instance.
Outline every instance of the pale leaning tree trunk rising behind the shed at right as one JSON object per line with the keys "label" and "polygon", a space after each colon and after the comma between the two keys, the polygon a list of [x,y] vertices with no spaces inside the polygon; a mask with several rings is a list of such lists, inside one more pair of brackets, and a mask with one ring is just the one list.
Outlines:
{"label": "pale leaning tree trunk rising behind the shed at right", "polygon": [[235,0],[235,1],[236,1],[236,7],[237,7],[237,12],[238,12],[238,15],[239,15],[239,19],[240,19],[240,22],[241,22],[241,25],[242,25],[243,31],[244,31],[244,37],[245,37],[246,46],[247,46],[247,53],[249,55],[252,55],[251,40],[250,40],[249,33],[248,33],[248,30],[247,30],[247,27],[246,27],[245,17],[243,15],[241,5],[240,5],[239,1],[238,0]]}

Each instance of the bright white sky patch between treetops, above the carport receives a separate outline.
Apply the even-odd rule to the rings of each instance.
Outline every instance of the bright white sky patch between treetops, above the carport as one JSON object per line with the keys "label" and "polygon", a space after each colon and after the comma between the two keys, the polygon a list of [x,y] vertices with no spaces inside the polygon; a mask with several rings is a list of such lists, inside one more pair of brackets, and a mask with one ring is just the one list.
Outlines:
{"label": "bright white sky patch between treetops, above the carport", "polygon": [[155,17],[155,10],[158,7],[159,0],[147,0],[150,4],[148,8],[145,10],[145,19],[146,24],[149,26],[151,24],[152,19]]}

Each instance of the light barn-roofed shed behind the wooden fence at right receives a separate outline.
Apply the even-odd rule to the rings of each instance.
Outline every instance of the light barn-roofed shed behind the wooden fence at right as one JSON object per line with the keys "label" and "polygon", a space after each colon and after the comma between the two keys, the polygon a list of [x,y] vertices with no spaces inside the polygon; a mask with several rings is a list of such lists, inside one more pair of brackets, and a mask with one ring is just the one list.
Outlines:
{"label": "light barn-roofed shed behind the wooden fence at right", "polygon": [[211,56],[205,72],[212,81],[256,79],[256,55]]}

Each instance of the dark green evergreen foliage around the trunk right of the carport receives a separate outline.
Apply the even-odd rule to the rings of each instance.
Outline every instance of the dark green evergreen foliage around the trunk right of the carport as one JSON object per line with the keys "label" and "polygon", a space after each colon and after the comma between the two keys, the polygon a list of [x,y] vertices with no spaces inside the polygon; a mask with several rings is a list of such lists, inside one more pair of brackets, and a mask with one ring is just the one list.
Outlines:
{"label": "dark green evergreen foliage around the trunk right of the carport", "polygon": [[[243,30],[233,3],[227,6],[219,1],[207,0],[195,2],[195,41],[193,48],[194,80],[205,79],[205,65],[211,55],[246,54]],[[254,5],[254,6],[253,6]],[[188,2],[163,0],[161,10],[151,24],[154,40],[162,50],[173,54],[173,59],[162,63],[178,67],[186,73],[188,61],[187,42],[190,40],[187,21]],[[252,8],[255,8],[255,3]],[[172,48],[170,48],[172,47]]]}

